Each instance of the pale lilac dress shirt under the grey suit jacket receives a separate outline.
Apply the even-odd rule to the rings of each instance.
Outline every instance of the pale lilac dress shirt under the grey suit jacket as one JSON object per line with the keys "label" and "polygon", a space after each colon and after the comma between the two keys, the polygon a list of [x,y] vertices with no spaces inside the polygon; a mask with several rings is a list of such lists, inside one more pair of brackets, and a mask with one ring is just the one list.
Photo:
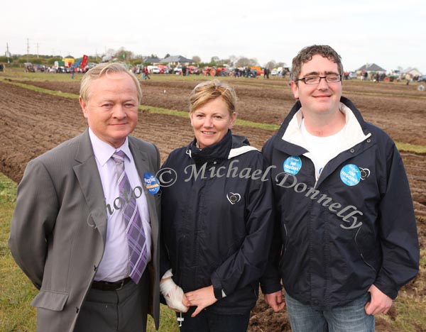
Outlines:
{"label": "pale lilac dress shirt under the grey suit jacket", "polygon": [[[107,241],[105,243],[104,255],[97,268],[94,280],[103,280],[115,282],[129,277],[129,245],[126,236],[126,224],[124,222],[121,210],[114,209],[114,199],[120,196],[119,186],[116,175],[116,164],[111,156],[115,151],[122,150],[126,157],[124,158],[124,170],[129,178],[131,189],[142,187],[141,177],[138,175],[136,165],[129,149],[129,140],[119,148],[114,148],[108,143],[100,140],[97,135],[89,128],[89,137],[92,142],[94,157],[96,159],[99,175],[104,189],[105,202],[109,204],[107,208]],[[145,232],[146,248],[148,249],[148,260],[151,260],[151,225],[146,201],[146,193],[142,190],[136,190],[136,196],[140,193],[141,197],[136,199],[139,214],[141,215],[143,231]],[[112,211],[112,214],[110,213]]]}

